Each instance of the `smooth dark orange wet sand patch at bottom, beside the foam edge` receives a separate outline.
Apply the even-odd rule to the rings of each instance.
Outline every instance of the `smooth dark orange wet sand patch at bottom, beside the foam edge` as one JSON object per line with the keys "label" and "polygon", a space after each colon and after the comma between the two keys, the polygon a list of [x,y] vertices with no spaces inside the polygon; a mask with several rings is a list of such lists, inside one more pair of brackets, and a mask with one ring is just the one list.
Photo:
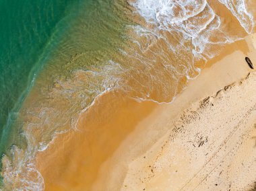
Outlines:
{"label": "smooth dark orange wet sand patch at bottom, beside the foam edge", "polygon": [[49,149],[38,154],[46,190],[90,190],[100,165],[156,105],[113,93],[98,98],[79,118],[77,130],[58,135]]}

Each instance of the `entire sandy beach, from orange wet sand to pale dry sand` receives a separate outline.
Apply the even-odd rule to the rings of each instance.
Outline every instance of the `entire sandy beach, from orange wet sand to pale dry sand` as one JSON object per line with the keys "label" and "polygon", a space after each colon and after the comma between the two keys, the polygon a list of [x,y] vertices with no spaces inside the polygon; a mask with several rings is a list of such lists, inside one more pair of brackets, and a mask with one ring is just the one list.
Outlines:
{"label": "entire sandy beach, from orange wet sand to pale dry sand", "polygon": [[172,104],[111,93],[96,100],[77,131],[38,154],[46,190],[249,188],[256,180],[256,75],[245,56],[256,63],[254,38],[227,46]]}

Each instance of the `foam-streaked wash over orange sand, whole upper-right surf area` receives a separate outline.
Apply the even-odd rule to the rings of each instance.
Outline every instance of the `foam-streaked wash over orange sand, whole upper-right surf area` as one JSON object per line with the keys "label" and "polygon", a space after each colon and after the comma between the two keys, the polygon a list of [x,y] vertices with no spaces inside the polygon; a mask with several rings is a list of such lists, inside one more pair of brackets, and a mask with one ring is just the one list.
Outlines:
{"label": "foam-streaked wash over orange sand, whole upper-right surf area", "polygon": [[[146,68],[140,74],[145,75],[145,80],[141,79],[143,87],[135,89],[145,89],[137,96],[139,99],[171,102],[185,87],[181,85],[185,84],[184,77],[189,80],[199,75],[198,63],[206,63],[225,44],[241,40],[252,31],[253,16],[247,12],[245,2],[236,1],[232,6],[231,1],[225,2],[234,18],[229,18],[231,13],[216,13],[216,7],[222,5],[218,1],[129,1],[133,14],[143,20],[135,17],[138,24],[129,26],[131,42],[137,48],[127,53],[136,63],[133,65]],[[241,26],[233,24],[236,19]]]}

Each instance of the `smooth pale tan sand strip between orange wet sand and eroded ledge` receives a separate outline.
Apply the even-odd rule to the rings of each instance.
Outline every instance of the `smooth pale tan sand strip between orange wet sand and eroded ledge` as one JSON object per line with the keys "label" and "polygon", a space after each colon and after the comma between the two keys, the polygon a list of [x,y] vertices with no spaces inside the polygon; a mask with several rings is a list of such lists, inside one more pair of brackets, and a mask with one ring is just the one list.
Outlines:
{"label": "smooth pale tan sand strip between orange wet sand and eroded ledge", "polygon": [[[123,141],[115,155],[113,155],[113,158],[102,165],[98,181],[94,184],[94,190],[104,190],[103,188],[106,188],[106,190],[121,190],[124,178],[119,177],[125,176],[125,171],[127,171],[127,166],[131,161],[143,155],[148,149],[160,146],[158,142],[164,137],[166,132],[168,132],[168,128],[170,128],[168,124],[173,121],[173,118],[177,118],[179,113],[183,112],[183,110],[188,108],[193,102],[198,102],[197,100],[201,100],[208,95],[213,95],[226,85],[230,85],[246,77],[250,69],[245,62],[245,56],[249,56],[251,60],[254,61],[253,63],[256,61],[255,56],[253,56],[255,49],[251,38],[251,36],[246,38],[245,43],[248,45],[248,49],[244,48],[242,49],[243,51],[235,50],[226,56],[223,56],[225,52],[222,53],[222,55],[220,55],[222,56],[221,58],[216,58],[216,63],[212,63],[210,67],[202,69],[201,75],[189,82],[187,88],[182,93],[179,93],[172,104],[159,105],[147,118],[143,119],[131,135],[129,135],[127,140]],[[231,45],[231,47],[232,46],[234,48],[234,44]],[[235,46],[237,46],[237,44]],[[230,50],[229,48],[228,50]],[[247,50],[249,50],[249,52],[245,54],[244,52],[247,52]],[[211,80],[214,82],[212,83]],[[141,137],[143,137],[143,139],[141,139]],[[127,155],[121,157],[122,152],[127,150],[126,148],[129,148],[129,151],[134,154],[131,155],[127,153]],[[137,151],[134,151],[135,148],[137,148]],[[142,149],[139,151],[138,148]],[[152,151],[154,151],[154,149],[152,149]],[[126,159],[126,161],[120,161],[119,157]],[[123,172],[120,170],[114,173],[112,169],[123,169]],[[141,172],[142,171],[143,169],[141,169]],[[108,176],[108,178],[105,178],[104,174],[106,173],[112,173],[112,177],[109,178]],[[117,185],[120,187],[117,188]],[[123,187],[123,189],[125,190],[125,187]]]}

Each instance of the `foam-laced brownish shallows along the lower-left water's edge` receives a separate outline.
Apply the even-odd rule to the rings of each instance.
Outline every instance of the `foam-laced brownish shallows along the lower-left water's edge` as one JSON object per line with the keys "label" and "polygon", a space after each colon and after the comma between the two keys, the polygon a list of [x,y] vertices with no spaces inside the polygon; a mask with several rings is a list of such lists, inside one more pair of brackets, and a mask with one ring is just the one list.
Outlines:
{"label": "foam-laced brownish shallows along the lower-left water's edge", "polygon": [[[23,111],[29,118],[23,123],[21,135],[26,138],[26,149],[13,146],[11,155],[2,157],[1,175],[7,190],[44,190],[44,180],[34,161],[36,154],[47,149],[57,135],[77,130],[79,116],[101,95],[119,87],[120,79],[114,73],[121,70],[121,66],[111,60],[101,69],[75,70],[71,79],[57,80],[59,85],[49,91],[53,102],[46,99],[42,105],[34,104]],[[61,103],[67,107],[61,108]]]}

